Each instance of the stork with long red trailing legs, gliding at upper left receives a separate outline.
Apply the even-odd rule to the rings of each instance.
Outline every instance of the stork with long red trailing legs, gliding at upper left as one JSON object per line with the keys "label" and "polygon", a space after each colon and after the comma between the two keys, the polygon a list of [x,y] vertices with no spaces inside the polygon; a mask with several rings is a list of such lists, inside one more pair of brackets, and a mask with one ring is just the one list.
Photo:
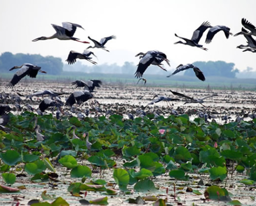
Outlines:
{"label": "stork with long red trailing legs, gliding at upper left", "polygon": [[38,40],[47,40],[47,39],[57,38],[59,40],[74,40],[74,41],[77,41],[77,42],[82,42],[82,43],[89,44],[89,42],[79,41],[78,38],[73,37],[74,32],[76,32],[76,30],[77,30],[77,27],[84,29],[79,24],[73,24],[73,23],[69,23],[69,22],[62,22],[62,26],[52,24],[52,27],[56,31],[56,33],[54,33],[54,35],[52,35],[51,37],[39,37],[39,38],[36,38],[32,41],[36,42]]}

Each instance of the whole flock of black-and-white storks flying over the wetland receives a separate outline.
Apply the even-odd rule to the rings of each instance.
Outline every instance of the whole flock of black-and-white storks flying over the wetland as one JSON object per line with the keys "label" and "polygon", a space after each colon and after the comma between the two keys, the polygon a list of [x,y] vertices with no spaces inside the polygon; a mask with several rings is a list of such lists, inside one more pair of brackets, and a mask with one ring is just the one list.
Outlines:
{"label": "whole flock of black-and-white storks flying over the wetland", "polygon": [[[234,36],[238,36],[238,35],[244,35],[244,37],[247,40],[247,45],[239,45],[237,46],[237,48],[243,48],[245,50],[243,50],[243,52],[246,51],[250,51],[253,53],[256,53],[256,41],[255,39],[253,39],[253,36],[256,36],[256,28],[254,25],[252,25],[250,22],[248,22],[246,19],[242,19],[242,31],[236,33]],[[73,40],[73,41],[77,41],[77,42],[81,42],[81,43],[89,43],[88,41],[80,41],[78,38],[73,37],[74,33],[76,32],[77,28],[81,28],[83,29],[83,27],[81,25],[78,24],[73,24],[73,23],[69,23],[69,22],[63,22],[62,26],[57,26],[52,24],[53,28],[55,29],[56,33],[54,33],[54,35],[50,36],[50,37],[39,37],[36,38],[34,40],[32,40],[33,42],[39,41],[39,40],[49,40],[49,39],[54,39],[57,38],[59,40]],[[244,28],[245,27],[245,28]],[[230,32],[230,28],[227,26],[210,26],[209,22],[203,22],[194,32],[192,35],[191,39],[187,39],[184,37],[180,37],[178,35],[175,36],[184,40],[184,41],[178,41],[175,42],[174,44],[185,44],[185,45],[189,45],[189,46],[194,46],[194,47],[199,47],[203,50],[207,50],[207,48],[203,47],[203,45],[199,44],[200,39],[203,36],[203,33],[207,30],[207,36],[206,36],[206,40],[205,43],[208,44],[210,42],[212,42],[214,36],[216,35],[216,33],[218,33],[219,31],[223,31],[225,37],[228,39],[230,35],[233,35]],[[248,30],[246,30],[248,29]],[[105,37],[102,38],[99,42],[92,39],[91,37],[88,37],[89,40],[91,40],[94,43],[94,46],[88,46],[86,48],[86,50],[84,50],[83,53],[78,53],[74,50],[71,50],[68,58],[67,58],[67,62],[68,64],[73,64],[77,61],[77,59],[85,59],[89,62],[91,62],[92,64],[97,64],[97,62],[95,62],[94,60],[92,60],[91,55],[95,56],[97,58],[97,56],[91,51],[91,50],[87,50],[89,48],[101,48],[103,50],[106,50],[107,52],[109,52],[109,50],[106,49],[105,45],[109,40],[112,39],[116,39],[115,36],[110,36],[110,37]],[[169,66],[170,66],[170,60],[168,60],[167,55],[165,55],[164,53],[158,51],[158,50],[150,50],[146,53],[139,53],[136,55],[136,57],[140,58],[138,67],[137,67],[137,71],[135,72],[135,77],[136,78],[140,78],[140,80],[144,81],[144,84],[146,83],[146,79],[143,78],[143,74],[146,71],[146,69],[148,68],[148,66],[150,65],[157,65],[159,66],[162,70],[167,71],[164,67],[162,62],[166,62]],[[19,68],[19,70],[14,74],[13,78],[11,79],[11,81],[8,83],[7,88],[13,88],[23,77],[25,77],[26,75],[31,77],[31,78],[36,78],[38,72],[41,73],[47,73],[45,71],[41,70],[40,66],[37,65],[33,65],[31,63],[24,63],[21,66],[13,66],[11,70],[17,69]],[[195,76],[197,76],[198,79],[200,79],[201,81],[205,81],[205,76],[203,74],[203,72],[200,70],[200,68],[198,68],[197,66],[193,65],[193,64],[180,64],[176,67],[176,70],[168,75],[167,77],[171,77],[181,71],[184,70],[188,70],[189,68],[193,68],[193,71],[195,73]],[[139,83],[138,81],[138,83]],[[66,106],[67,108],[72,108],[72,106],[74,104],[77,104],[78,106],[80,106],[83,102],[88,101],[89,100],[89,105],[93,105],[93,103],[95,103],[93,101],[93,92],[95,87],[100,87],[100,85],[102,84],[102,82],[100,80],[88,80],[88,81],[81,81],[81,80],[77,80],[72,82],[72,85],[76,85],[76,88],[84,88],[84,90],[80,90],[80,91],[75,91],[73,93],[71,93],[69,95],[69,97],[66,99],[66,102],[64,104],[64,102],[58,97],[59,95],[62,95],[64,93],[58,93],[58,92],[54,92],[51,90],[46,90],[46,91],[37,91],[33,94],[27,95],[27,98],[32,98],[33,96],[43,96],[43,95],[49,95],[50,98],[44,98],[40,104],[39,104],[39,110],[41,111],[41,114],[43,114],[43,112],[47,109],[47,108],[57,108],[57,112],[56,115],[60,115],[61,113],[63,113],[62,111],[62,106]],[[178,93],[178,92],[174,92],[171,91],[173,95],[177,95],[179,97],[183,97],[185,99],[187,99],[187,101],[185,102],[185,104],[188,103],[199,103],[201,105],[203,105],[202,103],[204,102],[203,100],[205,98],[202,99],[194,99],[192,97],[189,97],[187,95]],[[156,98],[157,97],[157,98]],[[212,96],[209,96],[212,97]],[[151,101],[148,105],[153,105],[154,103],[160,102],[160,101],[173,101],[173,100],[178,100],[177,98],[170,98],[170,97],[166,97],[166,96],[158,96],[156,95],[153,98],[153,101]],[[147,105],[147,106],[148,106]],[[204,106],[204,105],[203,105]],[[0,106],[0,115],[4,114],[6,111],[6,109],[4,109],[4,106]],[[8,122],[8,117],[6,116],[2,116],[0,117],[0,128],[3,127],[6,123]]]}

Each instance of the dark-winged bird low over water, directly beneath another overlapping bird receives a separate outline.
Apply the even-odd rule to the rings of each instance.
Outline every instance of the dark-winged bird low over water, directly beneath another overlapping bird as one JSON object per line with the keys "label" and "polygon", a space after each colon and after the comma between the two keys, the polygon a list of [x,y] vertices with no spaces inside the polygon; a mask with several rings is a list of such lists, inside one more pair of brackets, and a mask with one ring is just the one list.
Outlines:
{"label": "dark-winged bird low over water, directly beneath another overlapping bird", "polygon": [[70,94],[70,96],[66,100],[65,106],[68,108],[71,108],[72,105],[75,104],[76,102],[77,102],[77,105],[80,106],[83,102],[92,98],[93,98],[93,94],[88,90],[76,91]]}

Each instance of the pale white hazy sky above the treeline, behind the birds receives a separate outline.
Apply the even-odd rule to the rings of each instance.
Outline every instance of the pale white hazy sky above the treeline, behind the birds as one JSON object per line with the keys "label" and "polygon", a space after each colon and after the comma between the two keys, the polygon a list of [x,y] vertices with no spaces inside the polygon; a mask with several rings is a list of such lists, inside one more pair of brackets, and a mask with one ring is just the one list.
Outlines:
{"label": "pale white hazy sky above the treeline, behind the birds", "polygon": [[205,32],[199,43],[208,48],[207,52],[197,47],[173,44],[180,40],[174,33],[190,39],[204,21],[209,21],[212,26],[228,26],[232,33],[241,30],[242,18],[256,26],[255,8],[255,0],[2,0],[0,53],[52,55],[65,61],[70,50],[83,52],[89,44],[57,39],[32,40],[52,36],[55,30],[51,24],[61,26],[62,22],[72,22],[85,28],[78,28],[74,33],[74,37],[82,41],[89,41],[88,36],[98,41],[111,35],[117,37],[106,44],[110,53],[93,49],[98,64],[123,65],[125,61],[138,64],[136,54],[157,49],[167,54],[171,61],[171,67],[165,65],[168,70],[181,63],[209,60],[233,62],[241,71],[248,66],[256,70],[256,54],[236,48],[246,44],[242,35],[227,40],[224,33],[219,32],[212,43],[205,44]]}

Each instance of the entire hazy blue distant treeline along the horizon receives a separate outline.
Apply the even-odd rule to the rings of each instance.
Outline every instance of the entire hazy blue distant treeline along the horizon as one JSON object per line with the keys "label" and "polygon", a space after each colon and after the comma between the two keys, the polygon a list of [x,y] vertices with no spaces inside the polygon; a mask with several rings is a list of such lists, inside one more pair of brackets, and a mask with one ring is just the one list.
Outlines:
{"label": "entire hazy blue distant treeline along the horizon", "polygon": [[[63,64],[61,58],[53,56],[42,57],[41,55],[29,55],[29,54],[16,54],[13,55],[10,52],[5,52],[0,56],[0,72],[8,72],[8,70],[23,63],[32,63],[42,67],[43,71],[48,74],[58,75],[63,71],[72,72],[84,72],[84,73],[101,73],[101,74],[134,74],[137,70],[137,65],[132,62],[125,62],[124,65],[119,66],[117,64],[100,64],[100,65],[84,65],[81,61],[77,61],[72,65]],[[221,76],[228,78],[235,78],[238,73],[237,68],[234,68],[234,63],[227,63],[224,61],[197,61],[193,63],[198,66],[200,70],[207,76]],[[167,70],[170,67],[164,65]],[[172,68],[174,71],[174,68]],[[146,74],[154,75],[169,75],[170,72],[164,72],[158,66],[150,65]],[[192,68],[186,70],[184,75],[194,76]]]}

